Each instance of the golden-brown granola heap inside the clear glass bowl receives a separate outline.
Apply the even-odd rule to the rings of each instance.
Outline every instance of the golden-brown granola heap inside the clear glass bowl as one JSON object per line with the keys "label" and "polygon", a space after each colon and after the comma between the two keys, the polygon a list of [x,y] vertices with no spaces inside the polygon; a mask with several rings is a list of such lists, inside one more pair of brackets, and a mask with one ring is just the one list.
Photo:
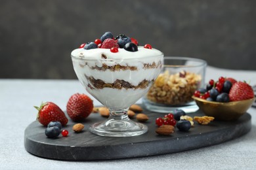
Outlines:
{"label": "golden-brown granola heap inside the clear glass bowl", "polygon": [[146,97],[155,103],[181,105],[192,101],[192,95],[200,87],[201,75],[182,71],[170,74],[161,73]]}

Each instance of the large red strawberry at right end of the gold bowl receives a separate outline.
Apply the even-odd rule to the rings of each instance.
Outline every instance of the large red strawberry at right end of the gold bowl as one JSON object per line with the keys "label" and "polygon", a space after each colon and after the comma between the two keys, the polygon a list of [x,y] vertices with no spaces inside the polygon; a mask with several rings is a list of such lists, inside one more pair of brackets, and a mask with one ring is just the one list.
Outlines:
{"label": "large red strawberry at right end of the gold bowl", "polygon": [[254,97],[253,88],[246,82],[235,82],[228,93],[230,101],[240,101]]}

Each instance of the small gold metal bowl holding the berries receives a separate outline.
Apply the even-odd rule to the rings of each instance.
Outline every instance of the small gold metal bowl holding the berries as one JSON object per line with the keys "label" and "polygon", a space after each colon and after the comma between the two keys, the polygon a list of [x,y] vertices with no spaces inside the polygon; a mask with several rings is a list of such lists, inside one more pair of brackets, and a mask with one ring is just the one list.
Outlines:
{"label": "small gold metal bowl holding the berries", "polygon": [[242,101],[230,101],[228,103],[207,101],[194,96],[192,98],[206,116],[213,116],[216,120],[225,121],[238,120],[255,101],[255,97]]}

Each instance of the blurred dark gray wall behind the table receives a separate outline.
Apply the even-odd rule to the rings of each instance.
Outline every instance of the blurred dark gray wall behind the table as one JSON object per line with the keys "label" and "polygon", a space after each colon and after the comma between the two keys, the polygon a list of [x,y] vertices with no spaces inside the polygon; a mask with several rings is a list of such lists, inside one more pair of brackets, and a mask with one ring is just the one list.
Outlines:
{"label": "blurred dark gray wall behind the table", "polygon": [[256,1],[0,1],[0,78],[76,78],[70,52],[105,31],[165,56],[256,69]]}

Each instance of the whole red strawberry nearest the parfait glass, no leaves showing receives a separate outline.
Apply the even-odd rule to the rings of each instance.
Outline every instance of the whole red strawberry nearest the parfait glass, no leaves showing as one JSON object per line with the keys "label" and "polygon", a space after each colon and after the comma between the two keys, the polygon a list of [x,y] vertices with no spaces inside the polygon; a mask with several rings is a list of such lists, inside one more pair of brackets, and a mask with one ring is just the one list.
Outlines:
{"label": "whole red strawberry nearest the parfait glass, no leaves showing", "polygon": [[93,100],[85,94],[75,93],[68,100],[68,116],[70,116],[70,118],[75,122],[84,120],[92,111]]}

